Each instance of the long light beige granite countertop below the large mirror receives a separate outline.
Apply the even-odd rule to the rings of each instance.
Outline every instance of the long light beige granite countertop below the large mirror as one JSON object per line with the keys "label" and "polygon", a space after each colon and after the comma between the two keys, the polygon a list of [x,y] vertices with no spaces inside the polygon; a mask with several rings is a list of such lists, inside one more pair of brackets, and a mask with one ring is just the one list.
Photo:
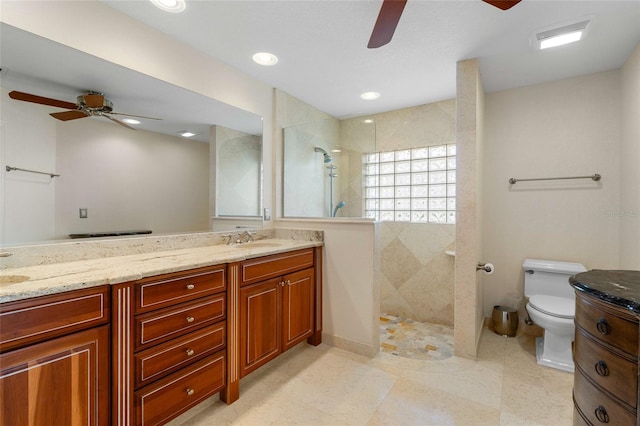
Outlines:
{"label": "long light beige granite countertop below the large mirror", "polygon": [[321,245],[319,241],[268,239],[240,245],[212,245],[7,268],[0,270],[0,303]]}

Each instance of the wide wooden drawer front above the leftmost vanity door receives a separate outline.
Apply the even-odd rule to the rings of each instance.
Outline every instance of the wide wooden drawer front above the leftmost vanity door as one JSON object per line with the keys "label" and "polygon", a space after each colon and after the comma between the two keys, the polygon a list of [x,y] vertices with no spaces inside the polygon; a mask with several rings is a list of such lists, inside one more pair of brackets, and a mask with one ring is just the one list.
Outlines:
{"label": "wide wooden drawer front above the leftmost vanity door", "polygon": [[0,305],[2,352],[109,321],[109,287]]}

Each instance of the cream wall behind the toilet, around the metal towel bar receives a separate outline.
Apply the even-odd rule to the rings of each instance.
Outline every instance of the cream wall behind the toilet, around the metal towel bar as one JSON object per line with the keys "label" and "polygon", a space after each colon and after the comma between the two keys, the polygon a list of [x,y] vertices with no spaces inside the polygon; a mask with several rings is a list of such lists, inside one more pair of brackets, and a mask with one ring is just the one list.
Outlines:
{"label": "cream wall behind the toilet, around the metal towel bar", "polygon": [[[620,205],[620,117],[619,71],[487,94],[484,259],[495,273],[485,316],[523,297],[525,258],[618,267],[619,218],[607,212]],[[600,182],[508,183],[594,173]]]}

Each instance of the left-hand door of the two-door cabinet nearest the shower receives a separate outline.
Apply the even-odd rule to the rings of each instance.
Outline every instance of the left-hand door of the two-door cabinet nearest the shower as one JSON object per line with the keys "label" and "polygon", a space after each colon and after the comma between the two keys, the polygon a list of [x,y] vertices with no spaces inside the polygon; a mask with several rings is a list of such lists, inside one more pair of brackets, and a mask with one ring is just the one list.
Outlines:
{"label": "left-hand door of the two-door cabinet nearest the shower", "polygon": [[282,278],[240,288],[240,377],[281,352]]}

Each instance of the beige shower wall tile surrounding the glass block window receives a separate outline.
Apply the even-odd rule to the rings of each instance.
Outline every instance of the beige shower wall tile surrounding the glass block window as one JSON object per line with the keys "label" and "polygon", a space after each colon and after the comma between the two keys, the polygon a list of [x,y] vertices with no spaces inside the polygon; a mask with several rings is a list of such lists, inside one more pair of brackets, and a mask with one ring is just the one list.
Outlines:
{"label": "beige shower wall tile surrounding the glass block window", "polygon": [[[454,99],[341,122],[348,153],[345,213],[362,214],[362,154],[455,142]],[[364,123],[364,119],[373,123]],[[381,310],[453,325],[455,225],[384,222],[380,232]]]}

